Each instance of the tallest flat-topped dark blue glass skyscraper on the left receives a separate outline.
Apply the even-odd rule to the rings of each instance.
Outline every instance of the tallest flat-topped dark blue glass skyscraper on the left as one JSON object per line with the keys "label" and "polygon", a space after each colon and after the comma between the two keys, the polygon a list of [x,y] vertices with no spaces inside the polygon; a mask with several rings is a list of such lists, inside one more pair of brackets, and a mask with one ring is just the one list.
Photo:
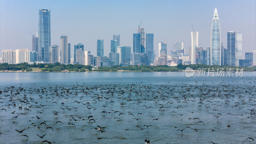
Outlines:
{"label": "tallest flat-topped dark blue glass skyscraper on the left", "polygon": [[38,61],[48,62],[48,48],[51,45],[50,10],[39,10]]}

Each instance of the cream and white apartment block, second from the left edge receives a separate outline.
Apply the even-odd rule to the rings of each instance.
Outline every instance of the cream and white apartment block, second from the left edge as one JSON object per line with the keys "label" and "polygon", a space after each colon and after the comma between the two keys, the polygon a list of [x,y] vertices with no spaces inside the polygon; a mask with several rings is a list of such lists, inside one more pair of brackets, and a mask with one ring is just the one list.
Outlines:
{"label": "cream and white apartment block, second from the left edge", "polygon": [[30,50],[29,49],[16,49],[15,50],[16,63],[23,63],[30,61]]}

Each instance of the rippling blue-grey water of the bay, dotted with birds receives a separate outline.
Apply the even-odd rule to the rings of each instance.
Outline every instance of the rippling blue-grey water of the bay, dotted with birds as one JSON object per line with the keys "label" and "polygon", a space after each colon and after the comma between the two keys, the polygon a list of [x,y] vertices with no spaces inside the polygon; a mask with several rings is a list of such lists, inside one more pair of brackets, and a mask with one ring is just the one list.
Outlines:
{"label": "rippling blue-grey water of the bay, dotted with birds", "polygon": [[0,143],[253,143],[247,138],[256,140],[255,78],[0,73]]}

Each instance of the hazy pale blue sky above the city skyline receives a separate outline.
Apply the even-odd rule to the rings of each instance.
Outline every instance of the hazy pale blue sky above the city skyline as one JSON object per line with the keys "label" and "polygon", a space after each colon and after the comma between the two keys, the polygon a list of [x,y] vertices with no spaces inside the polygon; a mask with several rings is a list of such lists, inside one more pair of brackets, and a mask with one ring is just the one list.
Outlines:
{"label": "hazy pale blue sky above the city skyline", "polygon": [[38,31],[39,9],[51,10],[51,45],[60,45],[60,36],[68,36],[71,58],[74,44],[83,43],[84,51],[96,56],[97,39],[104,40],[104,55],[110,52],[110,40],[120,35],[120,45],[133,46],[133,33],[145,28],[154,34],[154,50],[167,42],[184,42],[191,47],[191,24],[198,31],[198,44],[210,47],[212,16],[217,8],[220,18],[221,42],[227,48],[227,32],[242,32],[242,56],[256,50],[255,0],[0,0],[0,51],[32,50],[32,34]]}

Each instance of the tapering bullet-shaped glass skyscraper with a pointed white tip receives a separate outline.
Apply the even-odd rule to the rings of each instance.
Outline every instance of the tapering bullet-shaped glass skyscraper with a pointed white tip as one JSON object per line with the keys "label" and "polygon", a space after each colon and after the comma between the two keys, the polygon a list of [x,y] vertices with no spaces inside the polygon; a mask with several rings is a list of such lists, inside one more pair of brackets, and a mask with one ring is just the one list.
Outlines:
{"label": "tapering bullet-shaped glass skyscraper with a pointed white tip", "polygon": [[216,8],[212,18],[211,65],[221,65],[220,20],[219,20],[219,15]]}

